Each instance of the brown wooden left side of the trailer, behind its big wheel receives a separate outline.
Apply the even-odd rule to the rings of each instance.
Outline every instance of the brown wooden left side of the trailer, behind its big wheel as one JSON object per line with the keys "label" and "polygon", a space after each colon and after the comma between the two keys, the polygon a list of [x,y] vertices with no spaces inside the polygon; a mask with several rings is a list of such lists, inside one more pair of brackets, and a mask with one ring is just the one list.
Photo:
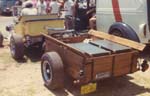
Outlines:
{"label": "brown wooden left side of the trailer, behind its big wheel", "polygon": [[83,69],[83,57],[68,50],[66,47],[46,40],[46,52],[56,51],[61,56],[65,71],[74,79],[80,78],[80,70]]}

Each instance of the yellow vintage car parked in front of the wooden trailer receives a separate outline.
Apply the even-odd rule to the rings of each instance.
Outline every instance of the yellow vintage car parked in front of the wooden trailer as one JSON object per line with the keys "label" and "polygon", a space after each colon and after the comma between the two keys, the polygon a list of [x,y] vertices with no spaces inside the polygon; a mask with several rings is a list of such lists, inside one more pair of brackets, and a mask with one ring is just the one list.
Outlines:
{"label": "yellow vintage car parked in front of the wooden trailer", "polygon": [[[21,16],[15,20],[11,30],[10,51],[15,59],[23,58],[24,49],[30,46],[42,48],[44,38],[41,33],[47,33],[45,27],[64,28],[64,19],[57,15]],[[10,31],[11,28],[6,28]]]}

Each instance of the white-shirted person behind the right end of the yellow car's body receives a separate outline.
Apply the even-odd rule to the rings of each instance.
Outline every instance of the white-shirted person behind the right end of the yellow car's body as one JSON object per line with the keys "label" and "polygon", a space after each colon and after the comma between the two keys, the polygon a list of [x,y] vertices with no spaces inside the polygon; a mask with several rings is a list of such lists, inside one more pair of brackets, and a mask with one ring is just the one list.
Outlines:
{"label": "white-shirted person behind the right end of the yellow car's body", "polygon": [[57,0],[52,0],[50,3],[50,14],[58,14],[60,15],[60,4]]}

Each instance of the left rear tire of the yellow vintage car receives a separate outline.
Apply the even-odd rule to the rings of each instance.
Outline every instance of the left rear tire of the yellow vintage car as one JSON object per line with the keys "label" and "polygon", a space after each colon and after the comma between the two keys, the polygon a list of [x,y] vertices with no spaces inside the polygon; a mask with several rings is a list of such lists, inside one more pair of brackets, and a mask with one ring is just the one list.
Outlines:
{"label": "left rear tire of the yellow vintage car", "polygon": [[22,59],[24,56],[24,43],[20,35],[13,34],[10,38],[10,51],[14,59]]}

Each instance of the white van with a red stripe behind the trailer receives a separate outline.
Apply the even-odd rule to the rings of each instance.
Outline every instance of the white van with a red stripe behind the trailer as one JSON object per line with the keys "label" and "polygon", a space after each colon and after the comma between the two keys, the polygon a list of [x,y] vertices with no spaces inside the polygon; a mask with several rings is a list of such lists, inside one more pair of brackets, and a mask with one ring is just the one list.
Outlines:
{"label": "white van with a red stripe behind the trailer", "polygon": [[97,0],[97,30],[150,42],[150,0]]}

